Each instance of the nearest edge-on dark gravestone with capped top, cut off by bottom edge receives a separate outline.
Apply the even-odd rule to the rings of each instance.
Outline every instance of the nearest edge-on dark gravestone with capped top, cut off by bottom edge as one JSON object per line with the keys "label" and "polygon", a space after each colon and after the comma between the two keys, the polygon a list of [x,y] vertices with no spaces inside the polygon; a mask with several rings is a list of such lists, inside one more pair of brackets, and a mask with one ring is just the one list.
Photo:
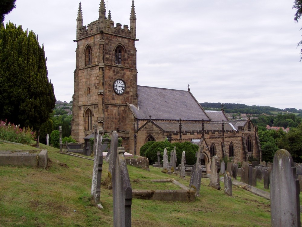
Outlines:
{"label": "nearest edge-on dark gravestone with capped top, cut off by bottom edge", "polygon": [[[111,137],[112,141],[113,137]],[[118,143],[118,137],[114,137]],[[131,227],[132,188],[125,160],[124,147],[111,150],[115,155],[112,173],[113,226]]]}

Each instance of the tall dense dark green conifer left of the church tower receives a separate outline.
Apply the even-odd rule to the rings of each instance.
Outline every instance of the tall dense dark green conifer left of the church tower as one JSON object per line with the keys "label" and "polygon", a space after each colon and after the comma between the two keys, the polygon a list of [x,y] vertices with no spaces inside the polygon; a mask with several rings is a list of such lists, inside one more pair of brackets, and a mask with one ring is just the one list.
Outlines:
{"label": "tall dense dark green conifer left of the church tower", "polygon": [[33,31],[0,25],[0,119],[39,132],[55,107],[44,47]]}

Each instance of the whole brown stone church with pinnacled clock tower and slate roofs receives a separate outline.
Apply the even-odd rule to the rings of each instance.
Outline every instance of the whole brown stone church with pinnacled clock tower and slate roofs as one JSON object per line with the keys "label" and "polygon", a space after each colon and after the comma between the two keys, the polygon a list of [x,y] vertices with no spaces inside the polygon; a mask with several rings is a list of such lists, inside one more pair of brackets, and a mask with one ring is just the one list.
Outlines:
{"label": "whole brown stone church with pinnacled clock tower and slate roofs", "polygon": [[96,125],[101,134],[117,131],[128,153],[140,154],[148,141],[200,140],[206,159],[250,156],[261,160],[258,129],[248,120],[230,121],[221,111],[204,110],[190,85],[186,90],[137,84],[136,13],[130,23],[114,24],[100,1],[98,20],[83,26],[79,3],[76,19],[76,69],[72,97],[72,138],[83,143]]}

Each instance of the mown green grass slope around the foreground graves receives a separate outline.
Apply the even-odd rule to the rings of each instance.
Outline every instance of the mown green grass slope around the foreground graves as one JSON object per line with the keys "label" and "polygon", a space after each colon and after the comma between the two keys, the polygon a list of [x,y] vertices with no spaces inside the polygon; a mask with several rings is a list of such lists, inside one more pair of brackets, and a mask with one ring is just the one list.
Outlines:
{"label": "mown green grass slope around the foreground graves", "polygon": [[[0,226],[112,226],[112,191],[101,188],[104,209],[91,201],[93,162],[47,148],[47,169],[0,166]],[[104,163],[102,179],[107,170]],[[150,172],[132,166],[128,171],[131,180],[171,177],[152,166]],[[174,178],[189,185],[189,177]],[[132,226],[270,226],[268,200],[236,186],[229,197],[222,183],[221,190],[208,185],[202,179],[201,197],[195,202],[133,199]]]}

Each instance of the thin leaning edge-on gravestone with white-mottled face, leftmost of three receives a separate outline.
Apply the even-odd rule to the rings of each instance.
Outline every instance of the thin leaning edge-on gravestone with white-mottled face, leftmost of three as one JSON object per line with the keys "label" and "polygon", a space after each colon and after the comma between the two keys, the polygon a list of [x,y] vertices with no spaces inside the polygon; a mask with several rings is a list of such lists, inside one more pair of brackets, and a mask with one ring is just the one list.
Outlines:
{"label": "thin leaning edge-on gravestone with white-mottled face, leftmost of three", "polygon": [[[92,173],[92,186],[91,195],[96,204],[100,203],[101,196],[101,178],[102,178],[102,166],[103,166],[103,151],[102,151],[102,136],[98,134],[95,141],[96,151],[94,155],[93,173]],[[101,206],[99,206],[101,207]]]}

